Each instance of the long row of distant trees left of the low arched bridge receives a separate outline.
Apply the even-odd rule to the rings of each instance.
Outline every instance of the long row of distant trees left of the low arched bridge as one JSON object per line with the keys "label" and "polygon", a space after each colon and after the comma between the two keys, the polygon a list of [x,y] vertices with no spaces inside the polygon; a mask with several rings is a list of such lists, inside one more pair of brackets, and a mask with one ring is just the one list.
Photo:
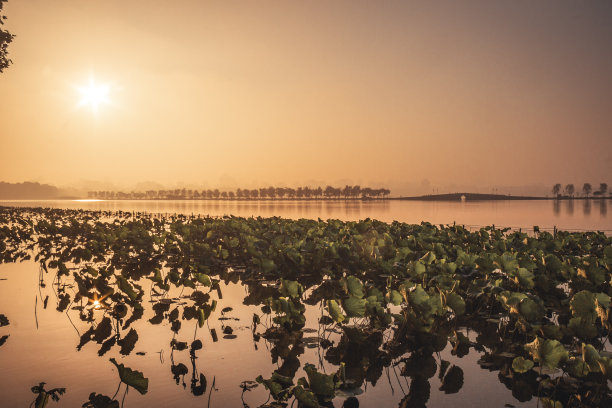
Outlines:
{"label": "long row of distant trees left of the low arched bridge", "polygon": [[387,198],[391,190],[386,188],[370,188],[361,186],[344,186],[344,188],[322,187],[264,187],[256,189],[236,190],[147,190],[145,192],[131,191],[89,191],[88,198],[103,200],[240,200],[240,199],[361,199]]}

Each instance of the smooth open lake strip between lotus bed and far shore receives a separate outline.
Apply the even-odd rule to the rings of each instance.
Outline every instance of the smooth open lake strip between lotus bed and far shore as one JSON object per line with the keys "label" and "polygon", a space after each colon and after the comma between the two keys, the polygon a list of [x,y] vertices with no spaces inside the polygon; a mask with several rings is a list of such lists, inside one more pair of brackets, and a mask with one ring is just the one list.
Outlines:
{"label": "smooth open lake strip between lotus bed and far shore", "polygon": [[564,230],[612,232],[612,200],[542,201],[214,201],[214,200],[31,200],[0,201],[4,206],[82,208],[86,210],[146,211],[241,217],[364,218],[385,222],[433,224],[456,222],[477,228],[485,225],[531,230],[557,227]]}

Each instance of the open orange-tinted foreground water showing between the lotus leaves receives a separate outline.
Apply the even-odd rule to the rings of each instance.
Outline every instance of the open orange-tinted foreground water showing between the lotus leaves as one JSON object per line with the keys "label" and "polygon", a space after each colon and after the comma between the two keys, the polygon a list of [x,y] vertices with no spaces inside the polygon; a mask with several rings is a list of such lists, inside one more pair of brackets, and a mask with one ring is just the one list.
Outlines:
{"label": "open orange-tinted foreground water showing between the lotus leaves", "polygon": [[[255,408],[266,402],[268,392],[263,386],[259,386],[245,393],[246,405],[243,405],[240,383],[244,380],[254,380],[260,374],[269,378],[274,370],[283,365],[283,361],[289,360],[287,355],[283,354],[282,347],[277,347],[263,338],[254,340],[251,331],[252,316],[253,313],[261,314],[261,310],[259,305],[246,304],[252,303],[245,299],[250,291],[240,282],[222,282],[219,293],[214,295],[219,302],[217,311],[213,313],[214,318],[209,319],[208,326],[195,331],[195,321],[183,321],[183,327],[176,337],[173,336],[167,321],[161,324],[150,323],[149,319],[154,313],[147,295],[146,301],[143,301],[144,316],[130,326],[130,329],[135,329],[138,334],[138,341],[132,352],[123,355],[115,345],[100,356],[101,344],[94,340],[77,350],[80,336],[91,327],[91,323],[80,319],[79,311],[74,309],[74,306],[78,305],[72,305],[67,312],[57,311],[58,300],[51,284],[51,274],[43,274],[46,284],[44,288],[39,288],[38,278],[39,268],[33,261],[0,265],[0,311],[10,320],[9,326],[0,328],[0,337],[8,335],[5,344],[0,347],[2,407],[28,406],[35,397],[30,387],[40,382],[46,382],[48,389],[65,387],[67,390],[59,403],[50,402],[49,407],[80,407],[94,391],[112,396],[119,382],[117,371],[109,362],[109,358],[113,357],[127,367],[142,371],[149,378],[149,392],[140,395],[135,390],[130,390],[125,398],[125,407]],[[143,282],[143,285],[146,285],[146,282]],[[149,292],[146,286],[145,292]],[[10,298],[7,296],[9,293]],[[44,308],[43,301],[47,296],[49,300]],[[170,298],[173,296],[178,298],[179,293],[173,293]],[[226,307],[233,310],[220,313]],[[320,330],[318,318],[321,313],[318,305],[306,306],[307,323],[303,330],[305,341],[317,337]],[[103,314],[103,310],[95,311],[93,319],[99,323]],[[227,320],[219,320],[219,317]],[[223,330],[226,326],[232,327],[236,338],[224,338]],[[216,331],[218,340],[213,339],[210,329]],[[123,337],[126,332],[127,330],[122,330],[119,334]],[[464,333],[470,340],[476,340],[477,333]],[[192,360],[188,350],[172,351],[170,342],[173,338],[187,344],[197,338],[204,346],[196,353],[197,358]],[[340,335],[332,333],[329,339],[338,344]],[[295,358],[301,366],[309,362],[315,364],[319,371],[334,373],[338,370],[338,366],[329,361],[332,358],[325,350],[303,345],[300,347],[294,346],[293,350],[298,350]],[[144,355],[137,354],[139,352]],[[503,407],[504,404],[512,404],[516,407],[535,407],[537,399],[529,392],[526,395],[529,401],[521,403],[515,399],[513,393],[525,395],[522,390],[508,389],[500,381],[499,371],[481,368],[479,359],[483,354],[474,349],[470,349],[467,354],[457,353],[449,342],[439,355],[435,355],[435,363],[432,359],[435,370],[429,374],[430,378],[424,377],[420,383],[416,383],[419,392],[429,394],[425,399],[427,406]],[[176,376],[172,368],[174,366],[176,370],[180,364],[188,372]],[[442,381],[439,372],[442,364],[461,369],[463,377],[461,383],[457,384],[460,387],[458,391],[447,393],[440,389]],[[401,401],[415,380],[402,375],[402,367],[400,356],[383,367],[379,373],[368,374],[366,378],[369,381],[366,380],[360,386],[360,390],[364,391],[358,395],[360,406],[404,407]],[[193,373],[197,373],[197,379],[199,374],[206,378],[207,388],[203,395],[194,395],[191,389]],[[302,376],[305,376],[305,373],[299,368],[295,378]],[[215,386],[210,395],[213,380]],[[123,388],[118,395],[121,400]],[[341,407],[345,398],[346,396],[337,397],[334,406]]]}

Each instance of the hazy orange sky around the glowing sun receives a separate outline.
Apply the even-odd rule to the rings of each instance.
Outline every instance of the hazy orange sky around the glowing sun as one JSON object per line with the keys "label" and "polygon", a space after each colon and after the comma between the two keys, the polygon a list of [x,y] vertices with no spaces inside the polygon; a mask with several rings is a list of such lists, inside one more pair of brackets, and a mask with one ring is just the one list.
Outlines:
{"label": "hazy orange sky around the glowing sun", "polygon": [[[612,1],[5,9],[0,180],[612,182]],[[97,112],[79,106],[91,78]]]}

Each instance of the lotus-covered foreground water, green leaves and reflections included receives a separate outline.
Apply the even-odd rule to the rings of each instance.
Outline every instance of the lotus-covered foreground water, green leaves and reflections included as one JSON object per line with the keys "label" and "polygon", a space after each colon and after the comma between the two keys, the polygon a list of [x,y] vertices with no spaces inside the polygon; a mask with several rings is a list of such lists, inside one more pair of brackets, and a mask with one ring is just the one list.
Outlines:
{"label": "lotus-covered foreground water, green leaves and reflections included", "polygon": [[611,244],[0,208],[0,401],[612,406]]}

